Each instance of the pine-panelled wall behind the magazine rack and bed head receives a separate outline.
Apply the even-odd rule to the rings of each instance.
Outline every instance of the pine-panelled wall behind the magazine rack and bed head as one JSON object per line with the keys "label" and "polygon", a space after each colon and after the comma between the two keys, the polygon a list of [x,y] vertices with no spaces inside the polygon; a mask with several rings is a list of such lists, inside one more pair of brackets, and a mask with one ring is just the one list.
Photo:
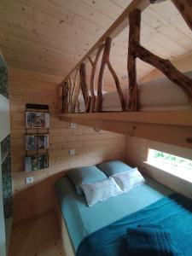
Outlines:
{"label": "pine-panelled wall behind the magazine rack and bed head", "polygon": [[[58,119],[58,86],[61,77],[22,69],[9,70],[11,144],[13,154],[14,220],[23,221],[53,207],[53,184],[64,171],[104,160],[125,159],[125,136],[108,131],[70,125]],[[48,104],[50,108],[49,168],[24,172],[26,103]],[[75,149],[74,155],[68,155]],[[34,177],[26,185],[26,177]]]}

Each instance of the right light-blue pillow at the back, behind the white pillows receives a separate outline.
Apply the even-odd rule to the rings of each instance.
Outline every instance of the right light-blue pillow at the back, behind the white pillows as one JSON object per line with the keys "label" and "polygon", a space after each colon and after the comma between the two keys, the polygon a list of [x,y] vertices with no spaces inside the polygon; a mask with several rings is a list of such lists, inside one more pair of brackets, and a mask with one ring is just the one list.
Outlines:
{"label": "right light-blue pillow at the back, behind the white pillows", "polygon": [[132,169],[131,166],[126,165],[124,162],[120,160],[111,160],[108,162],[104,162],[102,164],[97,165],[97,167],[102,170],[108,177],[119,173],[119,172],[127,172]]}

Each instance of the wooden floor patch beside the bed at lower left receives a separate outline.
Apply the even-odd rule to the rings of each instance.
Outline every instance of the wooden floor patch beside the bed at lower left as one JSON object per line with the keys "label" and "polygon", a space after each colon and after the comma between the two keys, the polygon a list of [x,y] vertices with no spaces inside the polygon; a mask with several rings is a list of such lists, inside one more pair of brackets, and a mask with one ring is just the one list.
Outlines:
{"label": "wooden floor patch beside the bed at lower left", "polygon": [[65,256],[54,212],[15,227],[9,256]]}

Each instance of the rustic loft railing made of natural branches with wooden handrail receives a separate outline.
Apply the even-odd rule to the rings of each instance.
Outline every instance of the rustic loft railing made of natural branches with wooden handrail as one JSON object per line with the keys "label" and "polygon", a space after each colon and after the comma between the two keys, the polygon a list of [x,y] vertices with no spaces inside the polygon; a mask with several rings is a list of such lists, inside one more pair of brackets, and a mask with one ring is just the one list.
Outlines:
{"label": "rustic loft railing made of natural branches with wooden handrail", "polygon": [[[96,44],[84,55],[81,61],[67,74],[66,78],[61,83],[62,87],[62,113],[79,112],[79,99],[82,94],[84,99],[86,113],[102,112],[102,89],[103,76],[106,65],[113,76],[116,89],[119,94],[122,111],[125,111],[125,98],[122,93],[118,75],[115,73],[110,62],[110,49],[113,38],[119,35],[126,26],[130,26],[129,31],[129,46],[127,70],[129,77],[129,109],[128,111],[138,111],[138,90],[137,90],[137,63],[136,59],[156,67],[166,77],[172,80],[173,83],[180,86],[185,92],[192,104],[192,79],[179,72],[176,67],[172,66],[171,61],[160,58],[154,55],[148,49],[145,49],[140,44],[141,35],[141,15],[143,9],[147,8],[150,3],[160,3],[166,0],[133,0],[132,3],[125,9],[122,15],[114,21],[108,31],[104,33]],[[192,30],[192,1],[191,0],[172,0],[183,19]],[[96,84],[96,71],[98,60],[102,54],[102,62],[98,73],[98,83]],[[93,61],[94,57],[94,61]],[[86,61],[90,61],[90,92],[87,85],[86,76]],[[72,79],[73,73],[74,79]],[[95,89],[97,85],[97,96]]]}

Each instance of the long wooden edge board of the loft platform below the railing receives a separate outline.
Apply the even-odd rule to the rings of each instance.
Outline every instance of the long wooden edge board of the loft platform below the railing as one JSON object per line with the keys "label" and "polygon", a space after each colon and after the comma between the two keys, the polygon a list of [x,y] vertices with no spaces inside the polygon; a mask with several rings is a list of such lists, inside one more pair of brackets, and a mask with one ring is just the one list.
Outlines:
{"label": "long wooden edge board of the loft platform below the railing", "polygon": [[63,121],[192,148],[192,111],[61,113]]}

